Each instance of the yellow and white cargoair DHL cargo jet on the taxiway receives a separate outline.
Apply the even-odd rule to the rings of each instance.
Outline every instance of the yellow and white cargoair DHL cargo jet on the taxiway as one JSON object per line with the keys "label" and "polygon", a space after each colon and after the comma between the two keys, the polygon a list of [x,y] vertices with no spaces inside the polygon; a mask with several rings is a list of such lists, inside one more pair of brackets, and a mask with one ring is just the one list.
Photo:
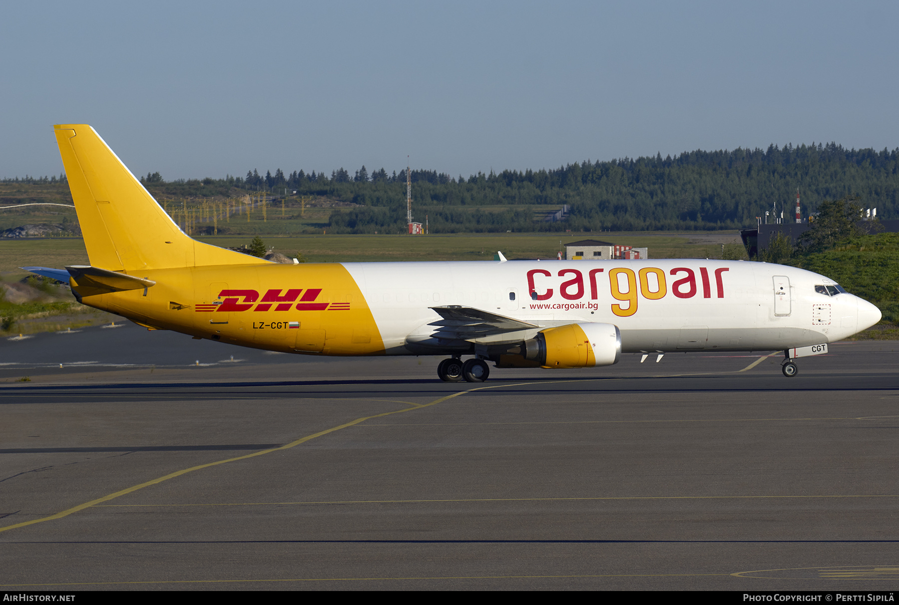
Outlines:
{"label": "yellow and white cargoair DHL cargo jet on the taxiway", "polygon": [[[622,352],[784,351],[880,321],[809,271],[763,262],[278,264],[197,242],[86,124],[55,127],[90,266],[25,267],[151,330],[313,355],[448,355],[449,382],[496,368],[589,368]],[[463,362],[463,356],[471,356]]]}

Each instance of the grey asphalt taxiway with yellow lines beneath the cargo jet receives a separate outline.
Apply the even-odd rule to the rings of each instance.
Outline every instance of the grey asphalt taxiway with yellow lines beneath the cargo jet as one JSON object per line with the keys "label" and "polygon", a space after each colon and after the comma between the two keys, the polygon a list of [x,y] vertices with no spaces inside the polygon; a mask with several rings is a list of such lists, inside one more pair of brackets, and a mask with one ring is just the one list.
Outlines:
{"label": "grey asphalt taxiway with yellow lines beneath the cargo jet", "polygon": [[4,340],[0,587],[892,590],[897,351],[447,384],[131,324]]}

